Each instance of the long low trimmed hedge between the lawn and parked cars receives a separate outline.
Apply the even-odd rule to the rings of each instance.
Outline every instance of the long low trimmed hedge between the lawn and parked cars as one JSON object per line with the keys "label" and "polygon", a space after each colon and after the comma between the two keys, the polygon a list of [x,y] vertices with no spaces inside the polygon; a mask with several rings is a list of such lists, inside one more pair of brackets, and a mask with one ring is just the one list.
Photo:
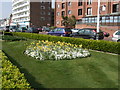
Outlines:
{"label": "long low trimmed hedge between the lawn and parked cars", "polygon": [[42,35],[35,33],[21,33],[21,32],[13,32],[15,36],[26,37],[29,39],[36,40],[48,40],[48,41],[61,41],[61,42],[69,42],[72,44],[83,45],[83,48],[110,52],[120,54],[120,43],[112,42],[112,41],[104,41],[104,40],[89,40],[82,38],[72,38],[72,37],[59,37],[59,36],[51,36],[51,35]]}

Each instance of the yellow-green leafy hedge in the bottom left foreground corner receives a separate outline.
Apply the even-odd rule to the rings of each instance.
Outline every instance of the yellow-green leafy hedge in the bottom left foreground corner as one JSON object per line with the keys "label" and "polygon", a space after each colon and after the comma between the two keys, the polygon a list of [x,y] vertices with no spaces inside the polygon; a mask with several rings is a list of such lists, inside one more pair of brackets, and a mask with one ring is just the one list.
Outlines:
{"label": "yellow-green leafy hedge in the bottom left foreground corner", "polygon": [[0,63],[2,63],[2,89],[31,88],[24,74],[20,73],[19,69],[8,60],[2,51],[0,51],[0,54],[2,56],[2,60],[0,60]]}

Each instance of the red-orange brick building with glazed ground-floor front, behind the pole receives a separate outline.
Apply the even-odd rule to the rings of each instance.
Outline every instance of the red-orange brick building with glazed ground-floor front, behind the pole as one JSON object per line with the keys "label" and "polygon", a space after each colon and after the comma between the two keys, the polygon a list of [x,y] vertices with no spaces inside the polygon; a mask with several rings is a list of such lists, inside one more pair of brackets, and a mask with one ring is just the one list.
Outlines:
{"label": "red-orange brick building with glazed ground-floor front, behind the pole", "polygon": [[[81,24],[97,23],[97,0],[56,0],[55,26],[62,26],[62,16],[74,15],[77,19],[76,27]],[[100,2],[100,25],[120,25],[120,1],[106,0]]]}

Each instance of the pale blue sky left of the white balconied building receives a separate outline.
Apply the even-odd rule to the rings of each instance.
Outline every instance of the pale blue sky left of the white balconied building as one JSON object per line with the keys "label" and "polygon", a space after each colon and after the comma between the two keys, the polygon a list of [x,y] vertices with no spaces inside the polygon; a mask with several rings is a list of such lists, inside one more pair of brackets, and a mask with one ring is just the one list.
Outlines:
{"label": "pale blue sky left of the white balconied building", "polygon": [[9,17],[11,13],[12,0],[0,0],[0,19]]}

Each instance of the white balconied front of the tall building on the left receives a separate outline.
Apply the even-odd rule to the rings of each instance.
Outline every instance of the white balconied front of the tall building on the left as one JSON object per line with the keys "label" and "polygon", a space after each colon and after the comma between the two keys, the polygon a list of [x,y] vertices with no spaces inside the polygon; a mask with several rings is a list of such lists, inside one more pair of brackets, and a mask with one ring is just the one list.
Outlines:
{"label": "white balconied front of the tall building on the left", "polygon": [[12,23],[30,25],[29,0],[12,0]]}

